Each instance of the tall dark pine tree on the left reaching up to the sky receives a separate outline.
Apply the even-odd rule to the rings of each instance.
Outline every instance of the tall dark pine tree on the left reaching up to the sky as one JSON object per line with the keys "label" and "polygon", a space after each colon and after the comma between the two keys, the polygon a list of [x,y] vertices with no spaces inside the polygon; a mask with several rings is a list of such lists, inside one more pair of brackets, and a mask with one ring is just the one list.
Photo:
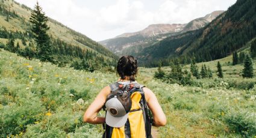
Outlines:
{"label": "tall dark pine tree on the left reaching up to the sky", "polygon": [[48,17],[42,11],[39,3],[34,7],[31,13],[30,22],[32,23],[31,31],[37,43],[37,57],[40,61],[52,61],[52,47],[50,37],[47,34],[49,27],[47,25]]}

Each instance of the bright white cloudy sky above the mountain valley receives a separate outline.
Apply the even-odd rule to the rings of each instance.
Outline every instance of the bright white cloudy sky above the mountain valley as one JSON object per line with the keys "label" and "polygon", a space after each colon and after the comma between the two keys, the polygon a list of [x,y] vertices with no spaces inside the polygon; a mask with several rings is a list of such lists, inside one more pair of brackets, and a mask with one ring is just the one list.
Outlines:
{"label": "bright white cloudy sky above the mountain valley", "polygon": [[[37,0],[15,0],[33,8]],[[38,0],[46,16],[95,41],[157,23],[188,23],[236,0]]]}

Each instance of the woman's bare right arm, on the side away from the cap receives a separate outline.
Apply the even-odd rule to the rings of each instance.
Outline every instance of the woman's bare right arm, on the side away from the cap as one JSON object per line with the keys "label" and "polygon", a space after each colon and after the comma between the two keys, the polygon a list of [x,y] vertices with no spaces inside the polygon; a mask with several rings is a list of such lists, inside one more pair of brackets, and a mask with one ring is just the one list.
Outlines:
{"label": "woman's bare right arm, on the side away from the cap", "polygon": [[146,101],[148,101],[148,107],[151,110],[154,118],[154,126],[161,127],[166,125],[166,116],[158,103],[157,97],[149,88],[143,88],[145,92]]}

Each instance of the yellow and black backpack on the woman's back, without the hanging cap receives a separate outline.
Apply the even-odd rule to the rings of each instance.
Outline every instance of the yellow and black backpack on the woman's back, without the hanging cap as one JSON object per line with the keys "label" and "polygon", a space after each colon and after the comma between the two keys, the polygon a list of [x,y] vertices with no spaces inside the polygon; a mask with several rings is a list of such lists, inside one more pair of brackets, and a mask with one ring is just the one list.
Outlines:
{"label": "yellow and black backpack on the woman's back, without the hanging cap", "polygon": [[[128,119],[123,127],[114,128],[104,124],[105,132],[103,137],[106,138],[150,138],[151,136],[151,112],[143,92],[143,85],[132,82],[130,85],[130,97],[132,101],[131,110]],[[111,93],[116,91],[122,92],[122,84],[116,82],[110,85]],[[105,110],[105,107],[103,107]],[[106,111],[106,110],[105,110]]]}

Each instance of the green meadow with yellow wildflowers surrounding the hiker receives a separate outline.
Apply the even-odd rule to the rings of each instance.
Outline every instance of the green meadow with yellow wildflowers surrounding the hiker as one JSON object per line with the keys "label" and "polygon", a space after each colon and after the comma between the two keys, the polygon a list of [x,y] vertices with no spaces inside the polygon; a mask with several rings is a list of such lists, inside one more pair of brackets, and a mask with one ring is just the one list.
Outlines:
{"label": "green meadow with yellow wildflowers surrounding the hiker", "polygon": [[[158,137],[256,137],[256,80],[243,79],[243,65],[231,60],[220,59],[224,79],[216,76],[217,61],[205,62],[213,79],[195,80],[200,86],[164,83],[154,79],[157,68],[139,68],[137,81],[152,89],[167,116]],[[1,49],[0,137],[101,137],[102,125],[84,123],[83,113],[117,79],[114,72],[61,68]]]}

